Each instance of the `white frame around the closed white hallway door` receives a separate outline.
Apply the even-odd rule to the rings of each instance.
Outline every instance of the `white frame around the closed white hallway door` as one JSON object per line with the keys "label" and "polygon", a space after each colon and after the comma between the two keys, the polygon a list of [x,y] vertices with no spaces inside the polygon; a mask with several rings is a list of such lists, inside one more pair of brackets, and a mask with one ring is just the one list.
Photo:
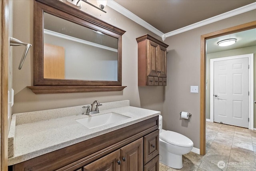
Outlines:
{"label": "white frame around the closed white hallway door", "polygon": [[244,54],[244,55],[237,55],[237,56],[229,56],[229,57],[222,57],[222,58],[214,58],[210,59],[210,122],[214,122],[214,62],[217,61],[224,61],[224,60],[234,60],[234,59],[242,59],[248,58],[248,65],[250,68],[248,70],[248,90],[249,90],[249,100],[248,100],[248,117],[249,123],[248,128],[254,128],[254,115],[253,115],[253,97],[254,97],[254,54]]}

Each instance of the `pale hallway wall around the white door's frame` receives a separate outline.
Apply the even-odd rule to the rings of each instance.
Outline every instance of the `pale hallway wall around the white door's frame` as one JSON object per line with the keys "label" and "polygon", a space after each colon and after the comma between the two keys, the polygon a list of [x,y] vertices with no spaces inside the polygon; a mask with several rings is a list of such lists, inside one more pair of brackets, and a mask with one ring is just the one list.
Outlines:
{"label": "pale hallway wall around the white door's frame", "polygon": [[[226,50],[223,52],[206,54],[206,79],[208,80],[207,90],[206,90],[206,119],[210,119],[210,59],[244,55],[244,54],[254,54],[254,59],[256,59],[256,46],[250,46],[246,48],[239,48],[234,50]],[[254,60],[254,73],[255,72],[256,72],[256,60]],[[256,76],[254,76],[254,82],[256,82]],[[256,89],[256,84],[254,84],[254,91],[255,89]],[[256,99],[256,93],[254,93],[254,99]],[[256,127],[256,107],[254,107],[254,127]]]}

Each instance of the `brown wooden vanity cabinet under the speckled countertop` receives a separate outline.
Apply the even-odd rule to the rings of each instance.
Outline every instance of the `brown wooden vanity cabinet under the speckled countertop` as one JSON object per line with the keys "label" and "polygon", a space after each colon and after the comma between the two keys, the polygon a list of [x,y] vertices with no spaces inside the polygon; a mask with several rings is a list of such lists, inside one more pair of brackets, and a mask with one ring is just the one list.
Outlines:
{"label": "brown wooden vanity cabinet under the speckled countertop", "polygon": [[15,164],[12,171],[158,171],[158,143],[155,116]]}

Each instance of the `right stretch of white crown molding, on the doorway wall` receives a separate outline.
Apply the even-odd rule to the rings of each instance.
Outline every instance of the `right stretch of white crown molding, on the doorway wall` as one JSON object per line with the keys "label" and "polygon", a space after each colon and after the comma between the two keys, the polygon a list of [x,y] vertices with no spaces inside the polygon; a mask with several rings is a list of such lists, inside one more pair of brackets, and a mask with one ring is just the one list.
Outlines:
{"label": "right stretch of white crown molding, on the doorway wall", "polygon": [[194,28],[198,28],[198,27],[201,27],[201,26],[204,26],[204,25],[207,25],[207,24],[211,24],[213,22],[217,22],[217,21],[220,21],[220,20],[223,20],[225,18],[232,17],[232,16],[236,16],[238,14],[242,14],[244,12],[248,12],[248,11],[254,10],[254,9],[256,9],[256,2],[254,2],[252,4],[248,4],[246,6],[242,6],[240,8],[237,8],[237,9],[234,9],[234,10],[231,10],[231,11],[228,11],[228,12],[225,12],[223,14],[220,14],[218,16],[214,16],[212,18],[208,18],[206,20],[202,20],[200,22],[188,25],[186,27],[179,28],[179,29],[174,30],[172,32],[168,32],[168,33],[166,33],[164,35],[167,38],[167,37],[173,36],[175,34],[180,34],[182,32],[186,32],[188,30],[192,30]]}

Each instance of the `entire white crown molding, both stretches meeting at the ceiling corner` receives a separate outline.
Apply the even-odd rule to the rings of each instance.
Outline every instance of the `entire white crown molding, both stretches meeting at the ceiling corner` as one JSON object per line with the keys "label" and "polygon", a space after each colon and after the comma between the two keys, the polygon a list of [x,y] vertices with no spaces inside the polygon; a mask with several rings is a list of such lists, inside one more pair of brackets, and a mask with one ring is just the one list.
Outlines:
{"label": "entire white crown molding, both stretches meeting at the ceiling corner", "polygon": [[130,18],[132,21],[140,24],[141,26],[143,26],[144,28],[150,30],[151,32],[153,32],[154,34],[160,36],[162,38],[162,40],[164,41],[167,37],[173,36],[175,34],[180,34],[182,32],[186,32],[188,30],[192,30],[194,28],[198,28],[213,22],[217,22],[219,20],[223,20],[225,18],[229,18],[232,16],[236,16],[238,14],[242,14],[244,12],[248,12],[250,10],[254,10],[256,9],[256,2],[252,3],[252,4],[248,4],[246,6],[242,6],[240,8],[225,12],[223,14],[220,14],[218,16],[214,16],[212,18],[208,18],[206,20],[202,20],[200,22],[191,24],[189,26],[183,27],[183,28],[179,28],[177,30],[174,30],[172,32],[168,32],[168,33],[163,33],[160,30],[154,28],[152,25],[148,24],[147,22],[145,22],[144,20],[142,20],[141,18],[139,18],[138,16],[136,16],[135,14],[133,14],[132,12],[130,12],[129,10],[127,10],[126,8],[124,8],[123,6],[119,5],[118,3],[114,2],[114,0],[108,0],[108,6],[114,10],[116,10],[117,12],[119,12],[120,14],[126,16],[127,18]]}

